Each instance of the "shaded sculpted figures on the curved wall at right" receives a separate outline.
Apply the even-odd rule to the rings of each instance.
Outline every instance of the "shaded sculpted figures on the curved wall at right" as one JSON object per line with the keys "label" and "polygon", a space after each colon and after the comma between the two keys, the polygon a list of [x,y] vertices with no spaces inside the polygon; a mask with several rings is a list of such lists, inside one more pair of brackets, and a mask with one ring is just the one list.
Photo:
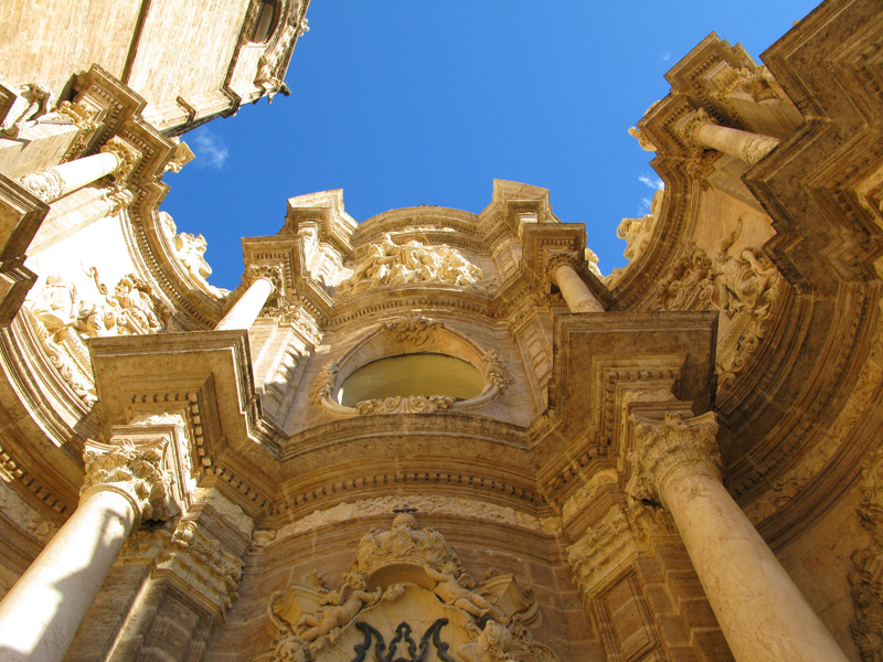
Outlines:
{"label": "shaded sculpted figures on the curved wall at right", "polygon": [[709,310],[723,312],[728,323],[717,343],[719,384],[732,386],[768,331],[768,320],[781,299],[785,279],[769,258],[757,248],[727,254],[735,235],[711,259],[696,245],[674,265],[659,285],[658,308],[663,310]]}

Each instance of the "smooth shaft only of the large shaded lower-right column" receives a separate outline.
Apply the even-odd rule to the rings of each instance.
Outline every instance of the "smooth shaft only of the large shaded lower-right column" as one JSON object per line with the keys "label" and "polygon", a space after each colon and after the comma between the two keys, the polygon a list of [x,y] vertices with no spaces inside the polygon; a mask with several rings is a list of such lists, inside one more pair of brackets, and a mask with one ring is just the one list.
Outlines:
{"label": "smooth shaft only of the large shaded lower-right column", "polygon": [[659,494],[738,662],[847,662],[714,469],[678,467]]}

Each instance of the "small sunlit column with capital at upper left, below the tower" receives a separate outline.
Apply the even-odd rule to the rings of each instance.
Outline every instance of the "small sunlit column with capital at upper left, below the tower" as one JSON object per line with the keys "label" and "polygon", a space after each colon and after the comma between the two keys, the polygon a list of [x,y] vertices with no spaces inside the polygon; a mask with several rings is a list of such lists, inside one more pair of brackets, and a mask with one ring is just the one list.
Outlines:
{"label": "small sunlit column with capital at upper left, below the tower", "polygon": [[115,137],[107,141],[99,154],[25,174],[19,183],[50,204],[108,174],[117,180],[128,177],[140,157],[138,150]]}

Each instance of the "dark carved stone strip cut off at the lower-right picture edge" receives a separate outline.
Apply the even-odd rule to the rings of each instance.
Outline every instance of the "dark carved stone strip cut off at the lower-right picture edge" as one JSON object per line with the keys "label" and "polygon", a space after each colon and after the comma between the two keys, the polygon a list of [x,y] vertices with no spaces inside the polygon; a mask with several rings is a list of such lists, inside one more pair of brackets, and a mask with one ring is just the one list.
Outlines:
{"label": "dark carved stone strip cut off at the lower-right picture edge", "polygon": [[852,639],[866,662],[883,659],[883,447],[865,460],[859,521],[871,543],[852,554],[849,583],[855,604]]}

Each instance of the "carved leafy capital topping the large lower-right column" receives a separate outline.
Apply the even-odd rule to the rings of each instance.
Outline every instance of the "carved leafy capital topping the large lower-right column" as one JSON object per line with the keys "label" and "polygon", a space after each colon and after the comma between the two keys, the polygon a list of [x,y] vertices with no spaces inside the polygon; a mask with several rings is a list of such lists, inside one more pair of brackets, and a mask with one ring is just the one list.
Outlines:
{"label": "carved leafy capital topping the large lower-right column", "polygon": [[722,461],[713,412],[695,418],[666,414],[662,420],[632,414],[629,421],[634,446],[628,453],[631,478],[626,490],[635,499],[660,501],[661,487],[679,468],[720,477]]}

